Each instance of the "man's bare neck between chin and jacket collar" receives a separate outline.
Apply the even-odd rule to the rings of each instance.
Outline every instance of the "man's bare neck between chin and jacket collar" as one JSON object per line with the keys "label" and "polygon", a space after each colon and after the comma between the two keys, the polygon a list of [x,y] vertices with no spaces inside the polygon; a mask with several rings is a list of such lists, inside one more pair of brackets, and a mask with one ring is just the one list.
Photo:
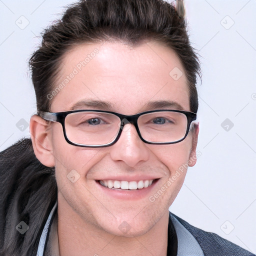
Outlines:
{"label": "man's bare neck between chin and jacket collar", "polygon": [[[63,205],[62,205],[63,206]],[[143,235],[117,236],[82,219],[58,204],[57,232],[60,256],[123,256],[167,253],[168,210]]]}

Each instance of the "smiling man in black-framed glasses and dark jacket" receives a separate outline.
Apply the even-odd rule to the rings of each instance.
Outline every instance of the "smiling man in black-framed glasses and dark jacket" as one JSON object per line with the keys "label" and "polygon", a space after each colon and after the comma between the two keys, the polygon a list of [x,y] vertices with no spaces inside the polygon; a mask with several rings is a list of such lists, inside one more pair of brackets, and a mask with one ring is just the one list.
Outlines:
{"label": "smiling man in black-framed glasses and dark jacket", "polygon": [[79,1],[30,66],[31,141],[2,153],[2,254],[252,255],[168,211],[199,132],[199,63],[173,5]]}

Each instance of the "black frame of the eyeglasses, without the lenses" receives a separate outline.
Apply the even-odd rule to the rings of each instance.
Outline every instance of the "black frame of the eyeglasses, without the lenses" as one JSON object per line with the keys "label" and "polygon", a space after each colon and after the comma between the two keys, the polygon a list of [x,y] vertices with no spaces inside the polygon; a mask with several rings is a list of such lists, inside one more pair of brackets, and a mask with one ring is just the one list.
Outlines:
{"label": "black frame of the eyeglasses, without the lenses", "polygon": [[[75,143],[72,142],[68,139],[68,137],[66,136],[66,131],[65,131],[65,118],[69,113],[75,113],[75,112],[104,112],[104,113],[110,113],[110,114],[114,114],[117,117],[119,117],[120,119],[120,127],[119,127],[119,131],[115,137],[115,139],[107,144],[102,144],[102,145],[84,145],[84,144],[79,144],[79,143]],[[138,124],[137,124],[137,120],[138,117],[140,115],[143,114],[147,114],[147,113],[152,113],[152,112],[163,112],[163,111],[169,111],[169,112],[178,112],[178,113],[183,113],[185,114],[186,118],[187,118],[187,127],[186,127],[186,132],[183,138],[177,140],[177,141],[171,141],[171,142],[152,142],[152,141],[147,141],[145,140],[142,136],[141,133],[139,131],[138,128]],[[95,109],[77,109],[77,110],[69,110],[69,111],[62,111],[62,112],[45,112],[45,111],[38,111],[37,115],[40,116],[41,118],[43,118],[44,120],[47,121],[54,121],[54,122],[59,122],[62,125],[62,129],[63,129],[63,134],[64,134],[64,138],[66,140],[67,143],[71,144],[71,145],[75,145],[75,146],[81,146],[81,147],[106,147],[106,146],[110,146],[113,145],[114,143],[117,142],[117,140],[119,139],[122,129],[124,127],[124,125],[126,123],[124,123],[124,119],[126,119],[129,123],[133,124],[136,128],[136,131],[138,133],[139,138],[148,144],[174,144],[174,143],[178,143],[182,140],[184,140],[189,132],[189,128],[191,125],[191,122],[196,120],[196,113],[191,112],[191,111],[185,111],[185,110],[174,110],[174,109],[157,109],[157,110],[150,110],[150,111],[145,111],[145,112],[140,112],[137,114],[132,114],[132,115],[126,115],[126,114],[120,114],[117,112],[112,112],[112,111],[107,111],[107,110],[95,110]]]}

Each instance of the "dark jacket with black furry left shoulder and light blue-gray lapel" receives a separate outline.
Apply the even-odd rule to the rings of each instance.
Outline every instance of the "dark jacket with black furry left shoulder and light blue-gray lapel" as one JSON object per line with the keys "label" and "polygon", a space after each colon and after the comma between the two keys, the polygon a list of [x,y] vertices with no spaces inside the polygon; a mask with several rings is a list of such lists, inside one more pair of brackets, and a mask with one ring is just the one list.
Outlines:
{"label": "dark jacket with black furry left shoulder and light blue-gray lapel", "polygon": [[[51,229],[46,228],[46,221],[54,217],[50,212],[56,208],[57,184],[54,169],[36,159],[30,139],[21,139],[0,152],[0,194],[0,255],[36,255],[39,241],[43,240],[42,231],[49,234]],[[189,251],[189,246],[202,252],[196,255],[255,255],[217,234],[190,225],[173,213],[169,213],[170,221],[175,227],[180,256],[194,256],[181,253],[182,249]]]}

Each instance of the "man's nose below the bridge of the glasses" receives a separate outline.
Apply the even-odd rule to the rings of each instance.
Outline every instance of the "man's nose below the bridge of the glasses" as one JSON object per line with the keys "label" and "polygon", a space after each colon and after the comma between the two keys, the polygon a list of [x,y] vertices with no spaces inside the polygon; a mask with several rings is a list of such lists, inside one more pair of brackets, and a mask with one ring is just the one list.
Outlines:
{"label": "man's nose below the bridge of the glasses", "polygon": [[120,160],[134,167],[138,162],[149,159],[149,149],[139,138],[135,126],[127,123],[119,139],[111,146],[110,156],[115,161]]}

